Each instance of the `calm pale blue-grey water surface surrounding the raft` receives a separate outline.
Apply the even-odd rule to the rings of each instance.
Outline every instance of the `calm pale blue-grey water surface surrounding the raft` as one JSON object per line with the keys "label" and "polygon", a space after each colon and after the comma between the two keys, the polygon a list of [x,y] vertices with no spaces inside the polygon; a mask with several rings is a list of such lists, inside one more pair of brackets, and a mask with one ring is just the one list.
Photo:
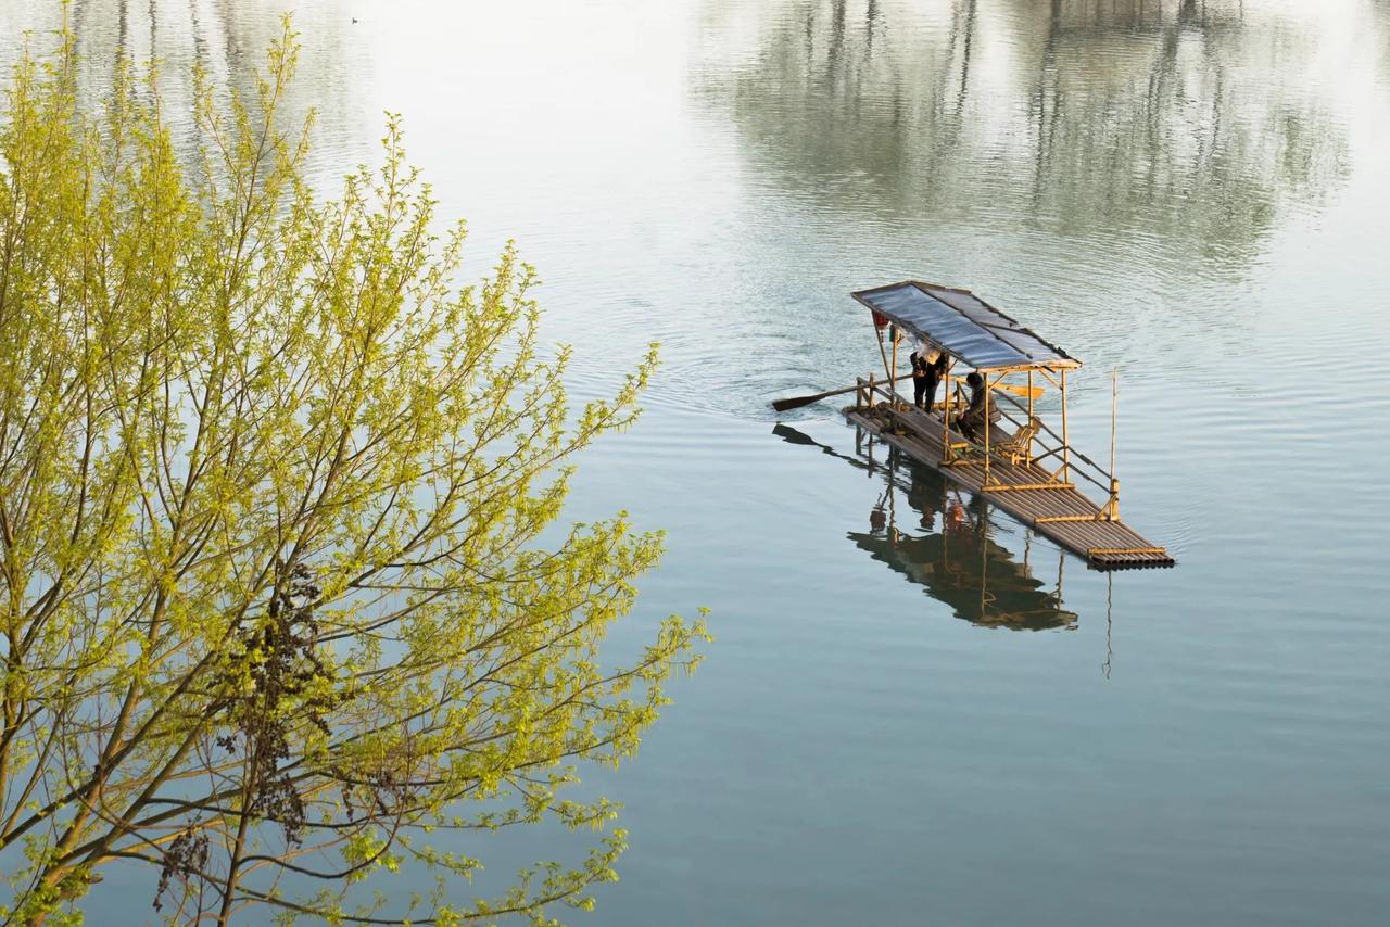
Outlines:
{"label": "calm pale blue-grey water surface surrounding the raft", "polygon": [[[614,652],[696,605],[719,642],[639,760],[587,782],[632,842],[594,923],[1384,923],[1390,4],[75,0],[72,22],[95,60],[243,82],[285,8],[325,190],[398,111],[475,272],[509,236],[539,267],[577,392],[663,342],[571,517],[670,531]],[[54,10],[0,0],[0,57]],[[870,464],[833,406],[774,428],[771,397],[873,368],[847,293],[909,277],[1086,361],[1083,449],[1120,370],[1123,513],[1176,570],[1088,571]],[[502,877],[557,842],[466,849]],[[110,880],[89,920],[147,919],[153,884]]]}

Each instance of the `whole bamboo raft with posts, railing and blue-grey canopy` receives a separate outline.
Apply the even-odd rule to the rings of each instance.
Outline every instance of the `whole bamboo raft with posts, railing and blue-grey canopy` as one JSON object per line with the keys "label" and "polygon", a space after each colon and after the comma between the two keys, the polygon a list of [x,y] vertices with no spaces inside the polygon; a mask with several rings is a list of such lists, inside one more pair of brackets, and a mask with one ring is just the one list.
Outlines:
{"label": "whole bamboo raft with posts, railing and blue-grey canopy", "polygon": [[[990,502],[1095,568],[1173,566],[1166,549],[1120,521],[1113,428],[1111,471],[1068,442],[1066,377],[1081,366],[1079,360],[970,290],[905,281],[860,290],[853,297],[873,313],[885,375],[858,381],[855,404],[845,409],[851,423],[966,489],[986,493]],[[884,346],[884,329],[891,354]],[[945,402],[930,411],[916,409],[894,388],[902,375],[898,345],[905,335],[947,356]],[[981,374],[986,417],[998,418],[976,439],[960,431],[965,397],[952,377],[952,370],[960,367]],[[1059,431],[1042,423],[1034,404],[1048,385],[1061,393]],[[1009,392],[1026,396],[1027,403]],[[1093,502],[1077,489],[1077,481],[1098,486],[1105,502]]]}

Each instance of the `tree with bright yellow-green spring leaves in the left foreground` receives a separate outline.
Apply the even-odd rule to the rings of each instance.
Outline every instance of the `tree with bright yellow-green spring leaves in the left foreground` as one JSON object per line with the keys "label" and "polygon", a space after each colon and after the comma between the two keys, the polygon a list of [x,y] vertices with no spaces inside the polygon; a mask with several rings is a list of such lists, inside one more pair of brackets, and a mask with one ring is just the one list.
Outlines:
{"label": "tree with bright yellow-green spring leaves in the left foreground", "polygon": [[[655,346],[571,409],[532,268],[509,246],[453,284],[463,228],[432,231],[395,120],[379,170],[335,202],[309,189],[309,125],[277,128],[295,58],[286,21],[253,95],[195,74],[192,150],[126,65],[85,114],[71,40],[8,86],[11,921],[81,920],[101,867],[135,860],[177,921],[550,923],[616,878],[624,839],[614,805],[564,787],[637,749],[703,637],[670,617],[602,662],[660,536],[556,524],[574,453],[634,420]],[[600,835],[473,898],[482,863],[450,848],[480,841],[450,834],[546,820]],[[434,891],[391,892],[402,866]]]}

